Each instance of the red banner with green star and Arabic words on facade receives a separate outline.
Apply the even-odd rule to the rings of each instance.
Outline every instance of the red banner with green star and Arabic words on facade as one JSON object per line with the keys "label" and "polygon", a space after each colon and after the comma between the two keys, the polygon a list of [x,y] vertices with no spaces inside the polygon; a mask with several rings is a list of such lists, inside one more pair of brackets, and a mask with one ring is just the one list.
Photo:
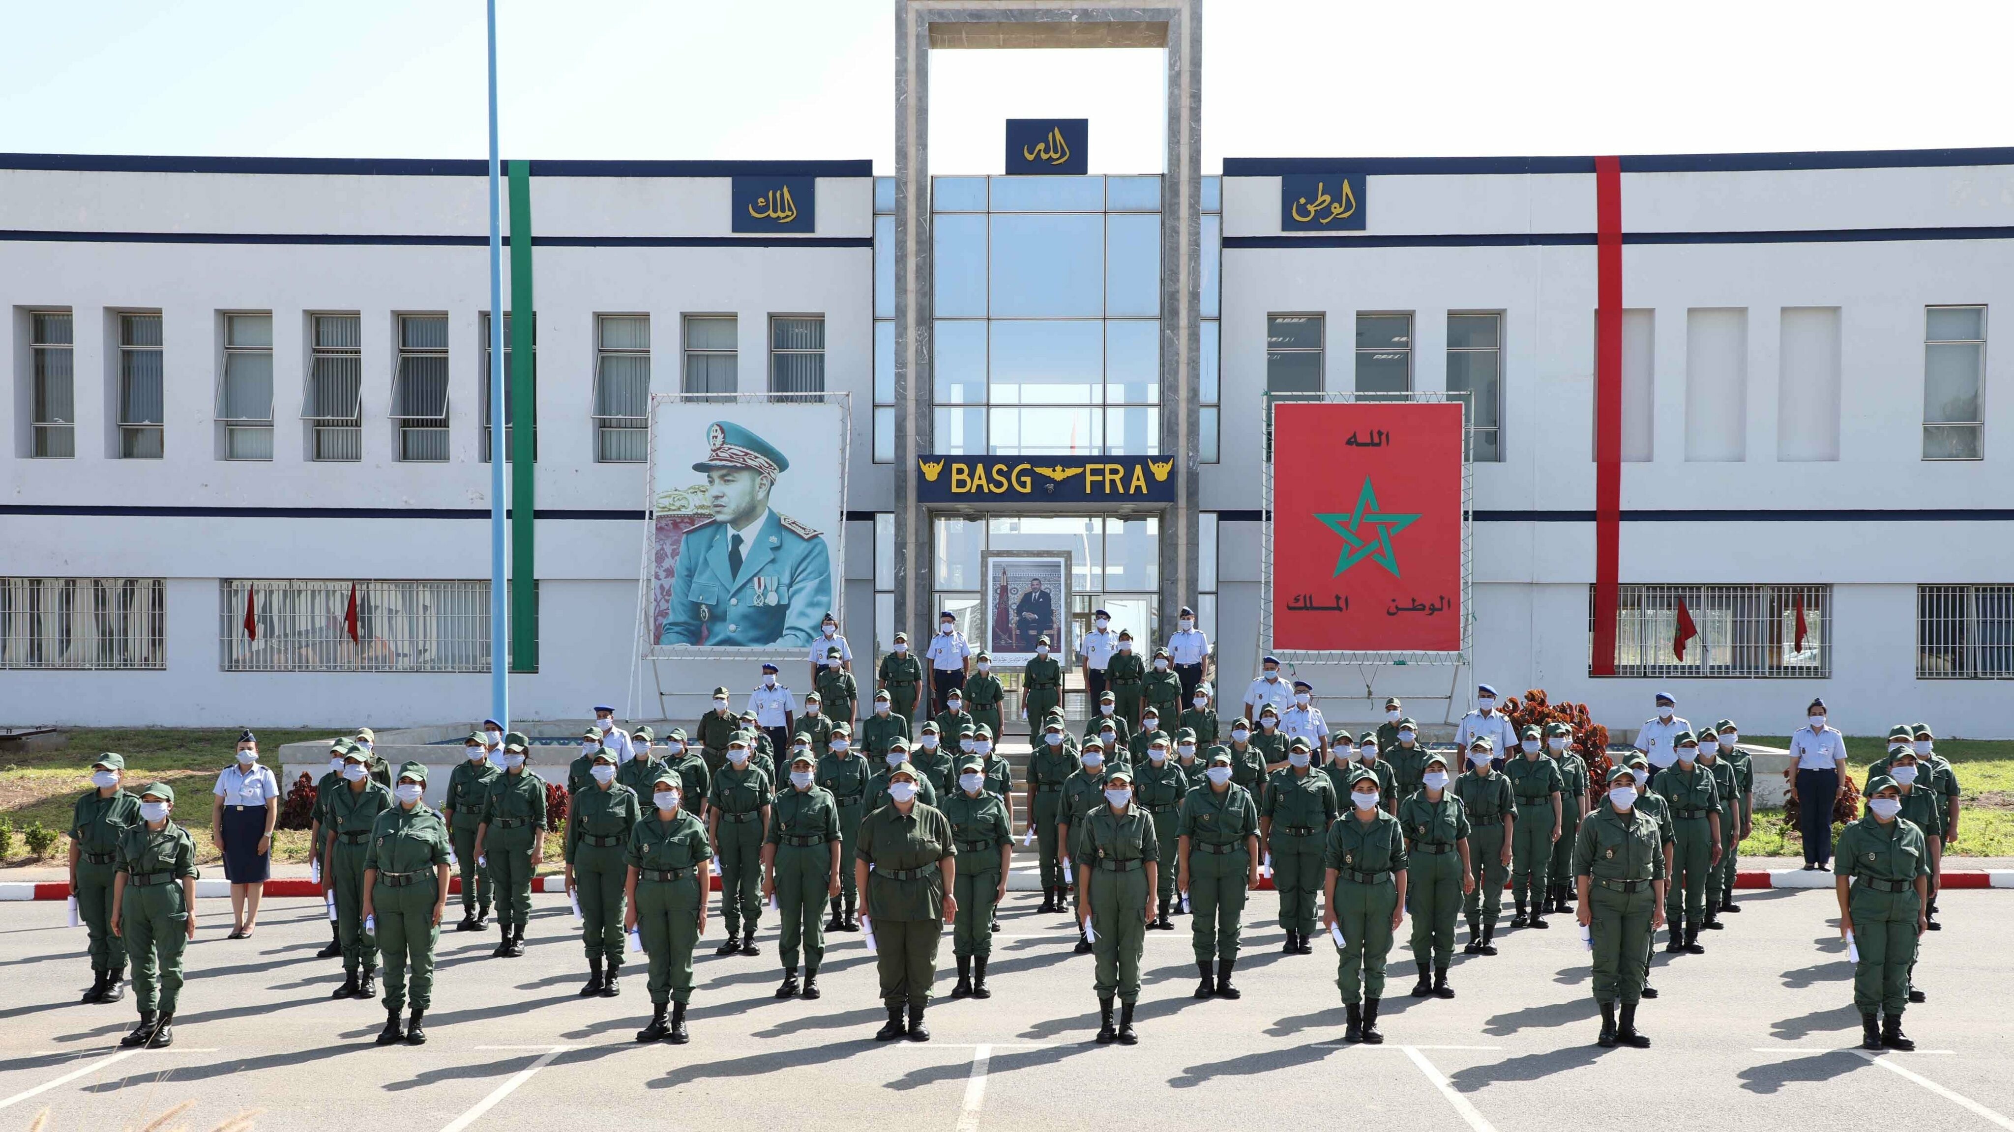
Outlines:
{"label": "red banner with green star and Arabic words on facade", "polygon": [[1462,649],[1462,407],[1273,407],[1273,641]]}

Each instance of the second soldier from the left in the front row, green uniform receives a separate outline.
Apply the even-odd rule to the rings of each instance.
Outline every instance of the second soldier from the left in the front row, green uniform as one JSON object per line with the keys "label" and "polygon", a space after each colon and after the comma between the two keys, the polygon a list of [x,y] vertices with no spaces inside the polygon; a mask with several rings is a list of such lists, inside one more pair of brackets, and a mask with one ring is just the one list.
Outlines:
{"label": "second soldier from the left in the front row, green uniform", "polygon": [[[371,824],[371,848],[365,852],[365,921],[375,923],[385,955],[385,1029],[379,1031],[379,1045],[427,1043],[421,1019],[433,1005],[433,949],[441,943],[453,866],[447,862],[447,822],[423,802],[425,792],[427,767],[401,765],[393,808]],[[413,1019],[401,1029],[399,1011],[409,999]]]}

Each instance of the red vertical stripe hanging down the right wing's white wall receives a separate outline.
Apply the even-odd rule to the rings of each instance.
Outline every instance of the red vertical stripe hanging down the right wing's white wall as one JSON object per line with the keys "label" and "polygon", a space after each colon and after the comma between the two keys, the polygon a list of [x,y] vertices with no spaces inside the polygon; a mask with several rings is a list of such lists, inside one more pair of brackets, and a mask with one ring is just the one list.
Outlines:
{"label": "red vertical stripe hanging down the right wing's white wall", "polygon": [[1615,675],[1623,510],[1623,171],[1595,157],[1595,641],[1591,671]]}

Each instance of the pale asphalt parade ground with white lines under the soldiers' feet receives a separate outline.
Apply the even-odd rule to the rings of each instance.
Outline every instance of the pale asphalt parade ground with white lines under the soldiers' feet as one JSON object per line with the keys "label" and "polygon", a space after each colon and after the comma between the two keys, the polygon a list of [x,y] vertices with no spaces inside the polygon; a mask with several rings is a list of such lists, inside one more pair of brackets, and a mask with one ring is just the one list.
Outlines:
{"label": "pale asphalt parade ground with white lines under the soldiers' feet", "polygon": [[[1063,916],[1009,894],[987,1001],[939,977],[928,1043],[878,1043],[884,1011],[860,935],[836,935],[818,1001],[775,999],[775,923],[757,957],[697,959],[689,1045],[638,1045],[642,967],[622,995],[582,999],[578,933],[564,896],[534,896],[524,959],[491,959],[495,933],[443,933],[427,1045],[375,1045],[379,1003],[332,1001],[338,961],[320,902],[274,900],[248,941],[226,941],[228,906],[201,902],[189,981],[169,1049],[119,1049],[131,995],[79,1005],[85,933],[60,902],[0,906],[0,1130],[145,1128],[175,1116],[215,1130],[242,1114],[288,1132],[463,1132],[683,1124],[695,1128],[906,1130],[1307,1128],[1801,1130],[1909,1120],[1944,1132],[2014,1130],[2014,900],[1946,892],[1946,931],[1925,935],[1905,1015],[1915,1053],[1861,1053],[1853,971],[1825,890],[1748,892],[1708,933],[1706,955],[1662,951],[1639,1027],[1651,1049],[1597,1049],[1587,953],[1571,916],[1504,931],[1496,957],[1456,953],[1452,1001],[1412,999],[1394,955],[1386,1043],[1341,1045],[1333,947],[1281,955],[1275,898],[1247,906],[1239,1001],[1190,997],[1188,921],[1148,933],[1140,1043],[1098,1045],[1090,957]],[[457,908],[449,904],[449,914]],[[220,927],[222,925],[222,927]],[[1508,925],[1508,912],[1502,925]],[[1404,931],[1410,931],[1410,923]],[[1466,939],[1466,933],[1458,933]],[[949,971],[945,939],[941,971]],[[1647,1108],[1645,1108],[1647,1106]]]}

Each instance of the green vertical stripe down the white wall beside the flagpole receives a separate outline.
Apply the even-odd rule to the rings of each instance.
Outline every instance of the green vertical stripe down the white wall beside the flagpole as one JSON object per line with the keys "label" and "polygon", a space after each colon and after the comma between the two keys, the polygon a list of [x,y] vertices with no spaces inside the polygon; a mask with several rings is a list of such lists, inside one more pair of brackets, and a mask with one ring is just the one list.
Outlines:
{"label": "green vertical stripe down the white wall beside the flagpole", "polygon": [[538,564],[534,479],[538,469],[538,306],[532,304],[532,163],[510,163],[510,669],[538,671]]}

